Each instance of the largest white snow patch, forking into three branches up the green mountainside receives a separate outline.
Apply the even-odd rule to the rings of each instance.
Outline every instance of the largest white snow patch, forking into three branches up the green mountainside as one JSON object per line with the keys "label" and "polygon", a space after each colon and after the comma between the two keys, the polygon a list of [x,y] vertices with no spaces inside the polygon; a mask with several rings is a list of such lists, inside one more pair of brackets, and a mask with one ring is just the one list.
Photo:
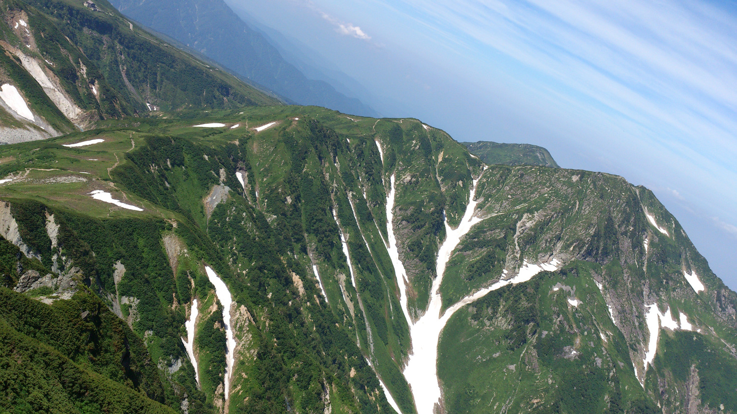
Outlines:
{"label": "largest white snow patch, forking into three branches up the green mountainside", "polygon": [[447,265],[448,260],[450,260],[453,250],[455,250],[455,247],[461,242],[461,238],[470,231],[472,226],[481,221],[481,218],[474,217],[477,204],[474,197],[476,192],[476,183],[478,182],[478,179],[475,179],[473,180],[473,185],[469,193],[469,203],[466,207],[466,212],[461,219],[461,223],[458,224],[458,228],[452,229],[447,224],[447,218],[445,220],[446,238],[438,251],[438,276],[433,281],[433,287],[430,290],[430,305],[427,307],[425,315],[413,324],[409,316],[407,304],[407,292],[405,286],[405,283],[407,282],[406,272],[404,265],[402,265],[402,260],[399,259],[397,238],[394,236],[394,225],[392,222],[394,219],[392,210],[394,209],[394,197],[396,195],[394,182],[395,177],[392,175],[391,190],[386,202],[389,256],[391,257],[391,262],[394,265],[394,272],[397,274],[400,303],[402,304],[402,310],[404,311],[405,318],[407,318],[410,326],[410,336],[412,338],[412,354],[410,355],[407,366],[405,367],[404,375],[412,388],[417,412],[419,414],[433,414],[433,407],[439,402],[441,397],[437,374],[438,342],[441,331],[453,313],[461,309],[461,307],[481,299],[481,297],[485,296],[486,293],[489,293],[492,290],[497,290],[512,283],[516,284],[527,282],[543,270],[554,271],[557,269],[557,265],[559,263],[555,259],[551,260],[550,263],[543,263],[541,265],[531,265],[525,262],[523,267],[520,268],[520,271],[517,273],[517,276],[514,276],[513,279],[500,280],[488,288],[478,290],[478,292],[458,301],[458,303],[448,308],[445,313],[441,315],[442,299],[440,295],[440,285],[443,280],[445,266]]}

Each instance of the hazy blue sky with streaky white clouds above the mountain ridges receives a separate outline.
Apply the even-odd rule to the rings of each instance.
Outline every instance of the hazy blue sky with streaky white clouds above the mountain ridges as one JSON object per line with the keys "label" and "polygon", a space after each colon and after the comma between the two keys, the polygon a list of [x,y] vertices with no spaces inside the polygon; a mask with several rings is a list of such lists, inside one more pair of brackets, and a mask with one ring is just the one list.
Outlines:
{"label": "hazy blue sky with streaky white clouds above the mountain ridges", "polygon": [[[228,0],[461,141],[654,190],[737,288],[737,12],[705,1]],[[351,85],[349,85],[351,88]]]}

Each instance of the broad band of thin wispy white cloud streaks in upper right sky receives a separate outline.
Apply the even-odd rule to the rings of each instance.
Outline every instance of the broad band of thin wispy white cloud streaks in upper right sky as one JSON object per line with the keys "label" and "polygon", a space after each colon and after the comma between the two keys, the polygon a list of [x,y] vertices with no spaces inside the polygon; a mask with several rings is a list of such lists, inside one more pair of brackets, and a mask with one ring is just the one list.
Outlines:
{"label": "broad band of thin wispy white cloud streaks in upper right sky", "polygon": [[[693,170],[704,181],[680,183],[691,192],[726,190],[737,201],[724,188],[725,180],[737,182],[733,15],[701,1],[383,3],[432,26],[439,45],[467,45],[481,64],[518,71],[520,82],[564,110],[620,126],[629,135],[622,146],[636,141],[657,152],[654,163]],[[489,56],[497,57],[483,62]],[[679,192],[696,198],[688,188]]]}

